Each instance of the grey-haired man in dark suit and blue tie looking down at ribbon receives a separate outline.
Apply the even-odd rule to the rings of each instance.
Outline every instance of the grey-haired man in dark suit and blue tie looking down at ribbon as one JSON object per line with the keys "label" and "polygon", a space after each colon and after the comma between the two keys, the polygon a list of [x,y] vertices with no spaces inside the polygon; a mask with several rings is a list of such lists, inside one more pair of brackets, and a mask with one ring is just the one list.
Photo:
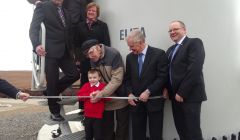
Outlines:
{"label": "grey-haired man in dark suit and blue tie looking down at ribbon", "polygon": [[[140,30],[133,30],[127,37],[132,51],[126,58],[126,87],[132,117],[133,140],[146,140],[146,124],[149,121],[151,140],[162,140],[164,99],[161,96],[167,82],[167,57],[163,50],[145,43]],[[142,68],[141,68],[142,65]]]}

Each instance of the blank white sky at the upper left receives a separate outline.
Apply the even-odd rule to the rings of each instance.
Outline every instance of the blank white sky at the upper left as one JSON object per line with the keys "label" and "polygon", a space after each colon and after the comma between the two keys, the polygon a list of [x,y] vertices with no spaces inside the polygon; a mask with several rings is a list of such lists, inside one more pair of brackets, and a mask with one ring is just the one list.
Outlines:
{"label": "blank white sky at the upper left", "polygon": [[32,45],[28,31],[33,5],[26,0],[4,0],[0,8],[0,71],[31,70]]}

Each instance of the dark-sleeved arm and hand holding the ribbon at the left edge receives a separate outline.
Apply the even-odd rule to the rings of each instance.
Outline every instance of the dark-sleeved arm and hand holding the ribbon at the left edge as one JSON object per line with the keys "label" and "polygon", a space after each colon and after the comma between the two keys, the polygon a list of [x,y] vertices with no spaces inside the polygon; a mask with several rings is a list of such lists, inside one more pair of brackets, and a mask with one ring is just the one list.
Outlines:
{"label": "dark-sleeved arm and hand holding the ribbon at the left edge", "polygon": [[26,101],[29,97],[28,93],[21,92],[19,89],[14,87],[12,84],[0,78],[0,92],[8,95],[11,98],[21,99]]}

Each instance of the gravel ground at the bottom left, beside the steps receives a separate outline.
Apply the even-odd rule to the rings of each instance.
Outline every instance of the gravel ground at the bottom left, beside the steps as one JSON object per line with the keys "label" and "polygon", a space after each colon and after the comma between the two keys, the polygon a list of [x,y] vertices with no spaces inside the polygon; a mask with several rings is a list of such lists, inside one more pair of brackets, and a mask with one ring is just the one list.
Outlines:
{"label": "gravel ground at the bottom left, beside the steps", "polygon": [[0,98],[0,140],[36,140],[47,119],[48,107],[38,105],[38,100]]}

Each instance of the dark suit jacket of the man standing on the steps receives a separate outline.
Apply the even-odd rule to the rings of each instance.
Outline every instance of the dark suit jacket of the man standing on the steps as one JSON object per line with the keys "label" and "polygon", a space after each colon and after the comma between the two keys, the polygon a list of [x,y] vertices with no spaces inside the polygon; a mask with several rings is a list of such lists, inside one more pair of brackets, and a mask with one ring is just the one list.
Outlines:
{"label": "dark suit jacket of the man standing on the steps", "polygon": [[71,55],[71,19],[63,8],[66,26],[63,26],[57,11],[57,6],[52,1],[37,5],[30,26],[30,39],[33,49],[41,44],[40,25],[43,22],[46,27],[46,57],[60,58],[67,51]]}

